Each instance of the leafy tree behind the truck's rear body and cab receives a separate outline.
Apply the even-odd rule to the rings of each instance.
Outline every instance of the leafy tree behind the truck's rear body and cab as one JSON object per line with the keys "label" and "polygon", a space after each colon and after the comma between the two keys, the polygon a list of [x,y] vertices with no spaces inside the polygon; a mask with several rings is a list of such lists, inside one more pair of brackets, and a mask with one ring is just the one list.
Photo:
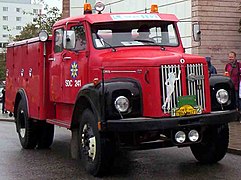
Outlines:
{"label": "leafy tree behind the truck's rear body and cab", "polygon": [[[26,24],[26,26],[24,26],[23,30],[20,32],[20,35],[16,36],[13,40],[19,41],[36,37],[41,30],[46,30],[50,34],[53,24],[60,20],[62,14],[57,7],[49,8],[49,6],[46,4],[44,4],[44,11],[46,12],[45,14],[36,15],[34,22]],[[25,13],[32,14],[29,12]]]}

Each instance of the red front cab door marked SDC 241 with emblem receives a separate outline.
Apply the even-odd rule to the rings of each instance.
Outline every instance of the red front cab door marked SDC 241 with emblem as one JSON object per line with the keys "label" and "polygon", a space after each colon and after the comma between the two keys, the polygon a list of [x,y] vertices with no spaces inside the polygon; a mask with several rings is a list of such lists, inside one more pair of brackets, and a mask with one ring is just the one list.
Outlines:
{"label": "red front cab door marked SDC 241 with emblem", "polygon": [[62,101],[74,104],[79,89],[87,83],[88,79],[88,47],[83,23],[69,23],[68,30],[74,31],[75,46],[72,49],[64,49],[62,54]]}

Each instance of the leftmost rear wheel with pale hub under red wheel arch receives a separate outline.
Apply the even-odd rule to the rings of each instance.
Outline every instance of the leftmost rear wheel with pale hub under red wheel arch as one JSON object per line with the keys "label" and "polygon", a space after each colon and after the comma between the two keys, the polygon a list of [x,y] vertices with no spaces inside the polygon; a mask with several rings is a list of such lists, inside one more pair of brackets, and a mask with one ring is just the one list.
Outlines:
{"label": "leftmost rear wheel with pale hub under red wheel arch", "polygon": [[28,117],[26,102],[21,99],[17,109],[16,128],[24,149],[34,149],[37,145],[37,128],[33,119]]}

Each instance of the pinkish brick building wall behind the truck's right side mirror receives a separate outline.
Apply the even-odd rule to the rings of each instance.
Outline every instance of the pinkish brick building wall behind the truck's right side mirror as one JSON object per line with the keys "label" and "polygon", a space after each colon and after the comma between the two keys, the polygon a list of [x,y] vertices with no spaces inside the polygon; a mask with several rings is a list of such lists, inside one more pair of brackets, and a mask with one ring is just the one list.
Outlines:
{"label": "pinkish brick building wall behind the truck's right side mirror", "polygon": [[211,56],[219,73],[224,72],[228,52],[241,62],[240,0],[192,0],[192,20],[201,24],[202,44],[193,53]]}

